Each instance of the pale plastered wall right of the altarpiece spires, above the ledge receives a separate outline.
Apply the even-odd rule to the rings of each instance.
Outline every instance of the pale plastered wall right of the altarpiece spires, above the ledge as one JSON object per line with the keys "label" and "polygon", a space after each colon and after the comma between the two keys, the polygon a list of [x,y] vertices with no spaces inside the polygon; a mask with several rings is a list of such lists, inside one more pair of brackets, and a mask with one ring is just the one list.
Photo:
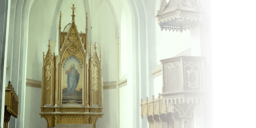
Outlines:
{"label": "pale plastered wall right of the altarpiece spires, above the ledge", "polygon": [[100,45],[102,46],[101,76],[103,82],[116,81],[116,42],[113,16],[106,1],[93,6],[99,6],[99,8],[98,10],[92,9],[92,55],[94,53],[93,44],[96,42],[98,54],[100,54]]}

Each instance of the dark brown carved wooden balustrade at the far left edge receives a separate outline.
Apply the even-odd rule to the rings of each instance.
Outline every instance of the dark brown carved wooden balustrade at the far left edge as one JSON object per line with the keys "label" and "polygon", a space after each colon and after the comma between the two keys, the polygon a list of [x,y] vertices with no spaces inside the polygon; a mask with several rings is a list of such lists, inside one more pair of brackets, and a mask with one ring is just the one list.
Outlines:
{"label": "dark brown carved wooden balustrade at the far left edge", "polygon": [[19,97],[17,96],[11,82],[8,82],[8,86],[5,87],[5,100],[4,100],[4,128],[8,128],[8,122],[10,117],[17,118],[18,116],[18,104]]}

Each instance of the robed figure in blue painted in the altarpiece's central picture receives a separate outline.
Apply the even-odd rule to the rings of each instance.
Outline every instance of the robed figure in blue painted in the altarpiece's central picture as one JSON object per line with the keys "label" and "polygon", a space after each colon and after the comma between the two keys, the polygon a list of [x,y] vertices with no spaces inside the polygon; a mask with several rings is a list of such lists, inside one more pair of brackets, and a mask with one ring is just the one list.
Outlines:
{"label": "robed figure in blue painted in the altarpiece's central picture", "polygon": [[66,74],[68,76],[67,78],[68,92],[64,94],[64,96],[67,96],[68,94],[72,94],[76,90],[76,87],[79,81],[79,73],[77,72],[74,64],[70,65],[70,68],[66,71]]}

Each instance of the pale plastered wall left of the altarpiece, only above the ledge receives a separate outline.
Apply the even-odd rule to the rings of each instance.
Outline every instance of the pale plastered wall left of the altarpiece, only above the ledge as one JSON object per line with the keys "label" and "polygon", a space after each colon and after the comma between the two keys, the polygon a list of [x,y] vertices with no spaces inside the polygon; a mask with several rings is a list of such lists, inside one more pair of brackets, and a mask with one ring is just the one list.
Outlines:
{"label": "pale plastered wall left of the altarpiece, only above the ledge", "polygon": [[30,14],[27,79],[42,81],[43,52],[46,54],[48,40],[51,37],[52,18],[56,3],[57,1],[38,0]]}

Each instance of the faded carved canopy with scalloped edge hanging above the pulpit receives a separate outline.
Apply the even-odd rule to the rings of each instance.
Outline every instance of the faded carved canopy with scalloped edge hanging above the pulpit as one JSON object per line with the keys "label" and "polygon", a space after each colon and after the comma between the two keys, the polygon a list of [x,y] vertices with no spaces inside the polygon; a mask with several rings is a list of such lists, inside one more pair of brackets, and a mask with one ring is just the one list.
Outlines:
{"label": "faded carved canopy with scalloped edge hanging above the pulpit", "polygon": [[189,30],[197,27],[199,24],[202,28],[203,13],[199,9],[197,0],[161,0],[160,7],[157,11],[157,21],[161,31]]}

